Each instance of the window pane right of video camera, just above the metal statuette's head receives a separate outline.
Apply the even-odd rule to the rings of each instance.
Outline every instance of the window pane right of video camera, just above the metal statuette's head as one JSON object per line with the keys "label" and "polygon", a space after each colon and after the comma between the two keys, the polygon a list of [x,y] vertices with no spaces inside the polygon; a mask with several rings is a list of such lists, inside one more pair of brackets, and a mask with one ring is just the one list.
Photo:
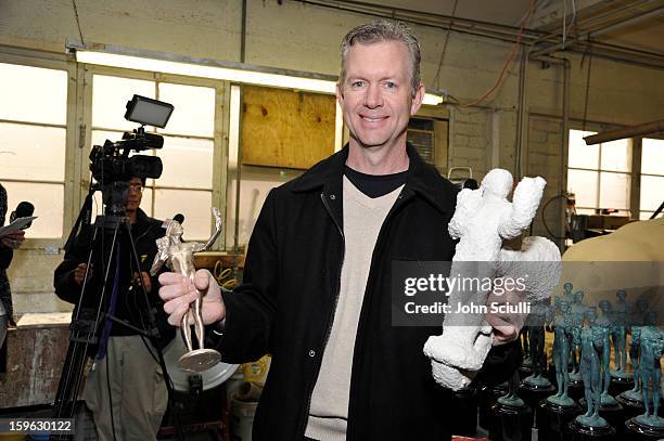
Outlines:
{"label": "window pane right of video camera, just above the metal statuette's head", "polygon": [[184,216],[184,238],[205,241],[212,232],[212,192],[156,189],[154,217],[173,218]]}

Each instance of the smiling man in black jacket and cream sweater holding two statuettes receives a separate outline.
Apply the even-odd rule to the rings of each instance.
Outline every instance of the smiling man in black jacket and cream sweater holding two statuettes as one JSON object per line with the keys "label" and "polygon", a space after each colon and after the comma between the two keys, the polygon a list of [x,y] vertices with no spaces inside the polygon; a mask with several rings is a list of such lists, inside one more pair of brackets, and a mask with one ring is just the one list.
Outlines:
{"label": "smiling man in black jacket and cream sweater holding two statuettes", "polygon": [[[439,327],[392,324],[393,263],[455,252],[447,224],[456,190],[406,142],[424,96],[419,65],[403,24],[353,29],[336,92],[349,144],[270,192],[240,287],[220,293],[208,273],[196,274],[224,360],[272,354],[254,440],[450,439],[451,392],[422,353]],[[195,290],[173,273],[159,282],[177,325]],[[498,342],[519,334],[506,325]],[[497,347],[482,374],[507,378],[520,358],[516,345]]]}

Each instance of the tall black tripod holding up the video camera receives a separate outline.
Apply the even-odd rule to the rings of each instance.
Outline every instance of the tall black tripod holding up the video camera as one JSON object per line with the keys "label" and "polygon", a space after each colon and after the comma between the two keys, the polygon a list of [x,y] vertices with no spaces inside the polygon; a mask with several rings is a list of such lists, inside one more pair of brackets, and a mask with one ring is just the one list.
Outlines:
{"label": "tall black tripod holding up the video camera", "polygon": [[[98,189],[90,187],[86,202],[76,220],[72,233],[65,245],[68,252],[75,242],[85,241],[81,237],[90,232],[90,210],[92,207],[92,195]],[[104,189],[103,196],[106,202],[106,216],[95,219],[92,237],[89,244],[87,268],[81,283],[80,297],[76,304],[75,314],[69,326],[69,346],[60,377],[58,392],[53,404],[54,418],[74,418],[76,402],[84,380],[84,371],[90,355],[97,354],[100,360],[105,355],[105,345],[110,336],[111,324],[125,326],[132,329],[145,341],[144,337],[159,337],[155,322],[155,311],[148,298],[148,293],[141,276],[141,264],[136,250],[135,241],[131,235],[129,219],[124,212],[127,184],[114,182],[108,189]],[[79,226],[81,230],[75,238]],[[78,244],[80,246],[80,244]],[[129,252],[123,248],[128,248]],[[139,290],[146,306],[146,329],[141,329],[114,316],[115,303],[119,296],[120,269],[127,269],[126,259],[130,256],[130,264],[139,272]],[[94,271],[91,269],[94,267]],[[101,269],[101,272],[99,271]],[[94,273],[94,275],[92,275]],[[174,397],[174,389],[168,376],[166,363],[162,349],[157,346],[156,359],[164,373],[165,384],[169,400]],[[150,349],[149,349],[150,350]],[[150,350],[150,352],[152,352]],[[176,433],[179,440],[183,439],[177,410],[174,408]],[[73,434],[52,434],[51,440],[72,439]],[[114,428],[115,438],[115,428]]]}

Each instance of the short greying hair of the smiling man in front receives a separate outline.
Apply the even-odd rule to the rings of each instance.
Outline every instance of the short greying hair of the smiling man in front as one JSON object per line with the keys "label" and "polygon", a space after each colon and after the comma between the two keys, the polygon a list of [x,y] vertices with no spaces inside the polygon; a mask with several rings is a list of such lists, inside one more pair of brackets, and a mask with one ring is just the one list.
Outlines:
{"label": "short greying hair of the smiling man in front", "polygon": [[399,41],[406,44],[410,56],[410,82],[412,95],[418,91],[421,82],[420,75],[420,43],[416,38],[412,29],[401,22],[390,22],[387,20],[378,20],[375,22],[360,25],[350,29],[344,37],[341,44],[341,73],[339,75],[339,85],[343,86],[346,80],[346,55],[348,50],[355,44],[374,44],[383,41]]}

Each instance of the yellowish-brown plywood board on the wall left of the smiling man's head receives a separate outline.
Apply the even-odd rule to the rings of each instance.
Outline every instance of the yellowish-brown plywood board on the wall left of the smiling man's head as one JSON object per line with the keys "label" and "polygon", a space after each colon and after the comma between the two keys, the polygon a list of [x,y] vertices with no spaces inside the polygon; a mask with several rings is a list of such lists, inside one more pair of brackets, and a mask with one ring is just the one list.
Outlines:
{"label": "yellowish-brown plywood board on the wall left of the smiling man's head", "polygon": [[334,152],[334,96],[242,87],[242,164],[307,169]]}

